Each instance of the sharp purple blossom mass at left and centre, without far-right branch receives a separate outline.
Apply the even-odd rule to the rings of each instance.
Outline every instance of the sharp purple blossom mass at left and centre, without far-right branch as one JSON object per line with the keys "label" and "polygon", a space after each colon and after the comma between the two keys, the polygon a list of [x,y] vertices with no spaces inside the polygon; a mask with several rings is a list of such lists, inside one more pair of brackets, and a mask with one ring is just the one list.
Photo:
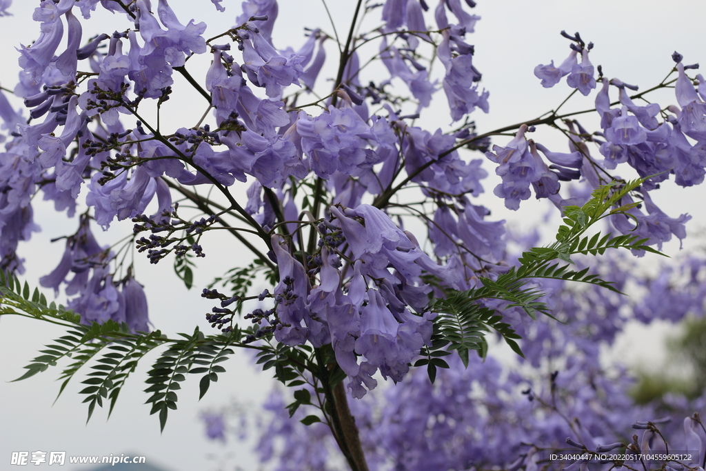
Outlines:
{"label": "sharp purple blossom mass at left and centre, without far-right branch", "polygon": [[[232,44],[207,45],[203,39],[205,24],[194,20],[182,23],[166,0],[154,5],[150,0],[139,0],[128,8],[111,1],[100,5],[124,15],[135,28],[100,34],[83,43],[81,21],[74,14],[73,3],[42,2],[34,16],[42,23],[42,35],[30,47],[20,48],[23,71],[16,88],[16,94],[25,98],[25,106],[30,109],[30,124],[24,124],[4,97],[0,102],[4,126],[13,137],[8,141],[7,152],[2,154],[3,165],[8,169],[3,172],[8,184],[2,192],[2,214],[4,221],[13,221],[2,225],[4,266],[20,268],[15,256],[17,242],[28,239],[29,233],[37,229],[31,219],[30,198],[40,182],[45,198],[53,200],[58,210],[68,210],[69,215],[73,215],[78,194],[85,189],[85,203],[92,208],[92,217],[107,229],[113,220],[142,217],[155,199],[157,212],[148,219],[158,220],[171,213],[167,179],[177,185],[215,184],[223,188],[254,178],[253,198],[268,189],[292,195],[285,212],[294,214],[295,220],[297,202],[292,185],[309,175],[329,179],[333,183],[333,201],[353,208],[350,211],[354,219],[337,214],[336,208],[331,210],[329,224],[342,233],[342,238],[340,244],[321,249],[323,255],[317,258],[321,260],[320,276],[331,278],[325,278],[318,286],[306,273],[311,266],[305,270],[292,256],[292,242],[273,237],[271,247],[282,280],[275,289],[281,298],[277,298],[281,321],[277,337],[285,342],[306,340],[315,345],[334,342],[350,376],[359,378],[358,384],[371,383],[370,374],[376,369],[396,380],[402,378],[407,363],[431,335],[432,315],[424,311],[431,287],[420,281],[421,274],[457,278],[466,283],[472,274],[466,268],[454,271],[438,266],[419,249],[414,237],[397,229],[387,213],[361,205],[361,200],[366,192],[380,196],[389,192],[402,169],[412,181],[422,184],[429,196],[438,196],[440,201],[480,193],[479,181],[486,174],[479,168],[479,161],[465,162],[453,150],[457,139],[469,133],[447,136],[441,130],[429,133],[409,126],[407,120],[414,117],[403,116],[390,105],[385,105],[386,117],[370,116],[367,102],[379,103],[384,98],[395,106],[395,100],[382,83],[371,83],[368,88],[361,85],[355,52],[349,55],[343,81],[337,83],[337,90],[321,114],[289,111],[283,98],[285,89],[304,85],[304,93],[313,91],[325,61],[326,36],[313,30],[297,52],[275,49],[271,31],[277,6],[273,1],[246,2],[245,13],[237,19],[239,26],[227,33],[232,44],[237,45],[241,61],[229,54]],[[218,2],[215,5],[220,7]],[[97,6],[95,1],[76,4],[86,19]],[[390,78],[400,77],[407,83],[421,109],[429,105],[431,93],[436,90],[435,83],[429,81],[428,66],[421,64],[417,51],[434,41],[424,32],[426,5],[402,2],[407,12],[402,20],[390,13],[394,6],[394,2],[388,2],[383,7],[383,29],[400,32],[404,47],[396,44],[397,40],[388,42],[385,36],[381,59],[390,70]],[[458,20],[457,24],[447,18],[447,11]],[[443,88],[452,118],[461,119],[475,107],[487,111],[487,93],[477,91],[481,75],[472,65],[474,50],[465,40],[478,18],[466,13],[457,1],[440,4],[434,16],[442,30],[439,57],[446,69]],[[64,41],[66,49],[61,50]],[[209,46],[213,62],[201,91],[208,94],[214,109],[215,129],[205,124],[164,136],[139,119],[140,107],[145,103],[155,102],[160,107],[169,99],[176,71],[191,77],[186,71],[186,59],[207,52]],[[82,64],[90,71],[85,82],[80,80]],[[79,83],[83,83],[83,88]],[[263,90],[265,97],[258,90]],[[122,115],[138,118],[136,125],[126,129],[121,123]],[[78,152],[71,150],[72,145]],[[273,207],[269,198],[260,201],[254,206],[249,203],[243,213],[252,215],[251,224],[260,224],[257,231],[273,227],[277,221],[270,216],[282,211]],[[482,247],[474,244],[479,254],[487,254],[486,245],[490,244],[494,244],[497,254],[496,236],[502,231],[496,227],[493,234],[484,234],[482,229],[479,233],[484,224],[483,210],[478,212],[469,201],[460,204],[472,208],[472,214],[459,213],[458,227],[452,234],[461,234],[460,240],[451,244],[460,245],[469,239],[467,234],[474,234],[484,241]],[[473,222],[467,222],[469,216]],[[167,227],[171,223],[166,220],[157,226],[162,227],[162,223],[170,234],[181,227]],[[354,237],[361,237],[354,233],[364,227],[361,223],[373,231],[387,228],[386,238],[376,242],[379,249],[360,249],[368,244],[368,239],[354,242]],[[157,226],[152,227],[152,232]],[[88,232],[88,222],[81,227]],[[373,233],[370,234],[372,238]],[[84,258],[90,260],[99,253],[92,248],[85,255],[77,255],[77,250],[83,250],[78,241],[85,237],[77,234],[68,239],[66,255],[44,284],[58,290],[74,270],[81,275],[67,282],[67,294],[78,296],[71,305],[87,321],[120,316],[119,299],[113,293],[114,275],[106,266],[110,259],[107,252],[100,249],[100,254],[105,255],[100,266],[90,267],[95,271],[92,277],[88,277],[89,270],[76,272],[78,268],[73,267],[77,260],[87,263]],[[150,249],[153,261],[157,261],[167,250],[163,245],[169,243],[162,239],[152,234],[150,239],[143,237],[136,243],[140,250]],[[342,244],[348,244],[347,249]],[[335,262],[333,258],[340,256],[347,259],[345,267],[330,265]],[[463,261],[465,256],[459,256],[457,266],[469,266]],[[394,269],[388,270],[389,265]],[[293,281],[287,285],[284,280]],[[371,284],[374,287],[369,294]],[[130,285],[128,282],[125,287]],[[354,288],[352,296],[348,286]],[[91,301],[99,294],[100,299],[109,302]],[[309,309],[311,303],[314,306]],[[101,313],[95,311],[100,306],[104,306]],[[325,328],[316,327],[328,318],[332,327],[328,321],[324,322]],[[369,343],[373,338],[386,338],[388,343]],[[357,347],[352,342],[357,342]],[[357,356],[366,361],[359,364]],[[361,390],[358,395],[362,395]]]}

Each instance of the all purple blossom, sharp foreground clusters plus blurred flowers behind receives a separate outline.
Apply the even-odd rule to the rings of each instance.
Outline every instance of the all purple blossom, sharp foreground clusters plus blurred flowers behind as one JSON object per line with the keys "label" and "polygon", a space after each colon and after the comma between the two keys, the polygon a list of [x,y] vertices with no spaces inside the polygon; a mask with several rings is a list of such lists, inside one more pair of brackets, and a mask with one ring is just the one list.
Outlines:
{"label": "all purple blossom, sharp foreground clusters plus blurred flowers behind", "polygon": [[[221,0],[211,3],[225,11]],[[8,6],[0,0],[0,16]],[[383,467],[392,460],[409,470],[460,470],[477,463],[531,470],[542,461],[542,443],[563,445],[570,434],[574,445],[609,447],[614,440],[606,441],[608,431],[633,413],[628,379],[609,381],[599,363],[601,346],[611,345],[628,322],[626,311],[649,322],[702,310],[702,278],[693,274],[683,291],[667,273],[656,280],[633,278],[650,290],[650,304],[628,302],[594,285],[574,292],[564,280],[540,280],[527,290],[546,293],[543,302],[566,329],[529,321],[521,303],[473,301],[479,313],[491,313],[506,339],[510,331],[524,340],[519,361],[527,375],[493,359],[483,364],[474,354],[464,370],[464,360],[454,354],[447,363],[449,352],[435,347],[443,338],[439,319],[448,314],[433,307],[435,299],[478,292],[515,273],[512,248],[532,239],[513,239],[504,220],[474,201],[484,191],[483,166],[489,164],[473,151],[491,162],[501,181],[493,194],[510,210],[534,195],[566,211],[618,180],[612,173],[618,167],[630,167],[645,181],[618,203],[638,203],[626,210],[630,217],[617,210],[608,218],[614,228],[657,247],[673,236],[686,237],[690,216],[667,215],[652,193],[672,175],[676,184],[693,186],[706,174],[706,81],[692,78],[694,66],[685,66],[678,54],[677,105],[645,104],[643,95],[630,95],[633,85],[609,80],[601,68],[596,75],[591,43],[563,33],[570,54],[559,66],[551,61],[534,68],[537,87],[553,87],[566,77],[570,93],[581,99],[600,81],[594,105],[601,129],[584,129],[575,120],[582,112],[553,112],[479,133],[470,117],[476,109],[489,112],[489,92],[469,44],[479,20],[468,11],[471,0],[441,0],[431,11],[424,0],[366,4],[366,15],[381,16],[375,30],[352,28],[343,42],[335,31],[311,29],[297,47],[285,48],[273,42],[279,13],[274,0],[244,1],[234,28],[210,40],[205,23],[180,20],[167,0],[103,0],[100,6],[115,13],[117,30],[83,37],[83,23],[98,6],[97,0],[42,1],[34,16],[37,40],[18,48],[23,71],[15,90],[27,112],[13,109],[0,92],[0,268],[21,273],[18,244],[39,229],[31,204],[39,189],[68,217],[87,206],[76,233],[62,239],[59,266],[40,280],[55,293],[64,289],[81,322],[110,320],[133,333],[148,332],[148,299],[123,254],[136,248],[157,263],[173,253],[177,275],[191,287],[193,261],[205,255],[201,244],[208,251],[210,231],[221,229],[238,244],[220,251],[223,263],[235,255],[241,266],[225,267],[232,270],[216,280],[225,280],[227,295],[213,286],[203,291],[203,297],[220,301],[206,315],[220,330],[210,340],[223,342],[232,334],[240,346],[254,342],[266,349],[265,338],[277,348],[265,364],[299,362],[297,355],[306,352],[298,365],[315,364],[325,373],[297,370],[301,381],[311,380],[301,384],[306,394],[321,393],[316,381],[330,373],[344,394],[368,395],[372,405],[354,402],[352,408],[361,430],[369,432],[362,441],[371,463]],[[431,24],[438,29],[429,30]],[[385,68],[371,73],[367,46]],[[205,73],[193,70],[196,54],[209,54]],[[319,76],[328,73],[331,57],[337,71],[327,81]],[[185,81],[175,79],[175,72]],[[184,113],[183,102],[174,100],[186,83],[202,100],[193,119],[191,109]],[[618,89],[617,101],[611,87]],[[450,120],[424,129],[417,119],[441,90]],[[167,113],[186,114],[188,122],[171,129]],[[568,148],[549,149],[529,138],[543,125],[565,133]],[[508,132],[515,136],[505,139]],[[573,184],[568,192],[563,182]],[[248,189],[239,193],[243,183]],[[94,222],[107,230],[126,219],[135,223],[128,245],[97,243]],[[413,233],[420,227],[427,237]],[[250,265],[241,255],[244,247],[256,259]],[[700,262],[693,266],[694,273],[701,270]],[[628,277],[618,268],[616,262],[599,270],[623,290]],[[272,284],[249,292],[261,274]],[[240,314],[251,324],[238,326],[234,317]],[[459,321],[459,328],[481,338],[488,326],[472,320],[470,327]],[[487,346],[480,340],[473,345]],[[324,359],[316,357],[322,352]],[[436,384],[412,369],[420,358],[439,365]],[[548,363],[558,373],[547,370]],[[441,371],[444,366],[452,368]],[[281,364],[275,369],[286,376]],[[374,390],[381,378],[407,386]],[[286,381],[291,385],[292,378]],[[556,391],[564,417],[572,419],[554,413],[560,407],[551,402]],[[276,400],[272,404],[282,409]],[[649,407],[640,412],[656,414]],[[203,420],[210,438],[225,440],[222,415]],[[659,449],[654,431],[639,427],[645,430],[640,446]],[[290,458],[300,460],[292,469],[323,469],[325,449],[304,443],[321,431],[297,430],[277,431],[287,436]],[[684,422],[683,431],[689,450],[706,444],[695,420]],[[530,441],[534,448],[520,449]],[[274,446],[265,440],[262,448]],[[511,465],[510,454],[522,456]]]}

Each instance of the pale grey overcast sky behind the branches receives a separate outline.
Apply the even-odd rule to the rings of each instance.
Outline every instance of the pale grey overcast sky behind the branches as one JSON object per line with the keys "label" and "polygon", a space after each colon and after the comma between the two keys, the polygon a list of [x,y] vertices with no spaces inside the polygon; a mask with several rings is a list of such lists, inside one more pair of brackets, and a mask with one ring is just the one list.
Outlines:
{"label": "pale grey overcast sky behind the branches", "polygon": [[[16,81],[18,66],[14,47],[20,43],[30,44],[37,37],[38,23],[31,20],[32,9],[37,4],[37,1],[16,0],[10,10],[14,16],[0,18],[0,85],[4,88],[13,88]],[[240,4],[241,1],[224,0],[222,5],[226,11],[218,13],[208,0],[170,1],[182,23],[191,18],[197,22],[205,21],[209,26],[206,37],[230,28],[240,13]],[[328,1],[337,31],[341,34],[347,30],[353,5],[350,0]],[[606,76],[635,83],[640,89],[649,88],[666,76],[674,66],[671,53],[675,50],[683,54],[686,63],[701,62],[706,66],[706,43],[701,34],[706,2],[699,0],[674,0],[669,4],[647,0],[479,0],[473,13],[481,16],[481,20],[467,41],[476,46],[474,61],[483,73],[481,86],[490,90],[491,112],[474,115],[481,132],[538,117],[568,95],[570,90],[564,83],[551,90],[544,89],[532,73],[537,64],[547,64],[551,59],[558,64],[566,57],[568,41],[559,35],[561,30],[579,31],[587,42],[594,42],[593,64],[602,64]],[[112,32],[118,27],[114,23],[116,20],[109,13],[97,15],[95,21],[83,21],[84,36]],[[124,28],[124,23],[119,24],[119,28]],[[328,32],[332,30],[323,13],[321,0],[280,1],[275,46],[291,45],[298,49],[304,42],[303,28],[317,26]],[[333,47],[329,47],[328,53],[329,61],[336,59]],[[201,62],[190,61],[189,67],[198,70],[208,66],[210,59],[207,56],[199,60]],[[371,73],[374,74],[375,70]],[[320,78],[318,85],[324,87],[326,83]],[[197,103],[191,97],[177,100],[177,93],[183,89],[184,84],[177,83],[172,95],[174,126],[177,123],[184,126],[179,120],[183,115],[187,118],[186,126],[192,126],[193,116],[203,114],[201,102]],[[663,105],[674,102],[669,92],[666,98],[671,101],[664,99],[663,95],[659,102]],[[450,118],[443,105],[445,98],[438,96],[436,100],[442,105],[433,109],[433,121],[429,123],[448,129]],[[578,97],[570,101],[566,109],[590,108],[592,100],[592,96]],[[533,137],[552,150],[566,151],[563,136],[540,129]],[[496,138],[494,142],[502,145],[503,138]],[[490,169],[489,166],[486,168]],[[518,213],[505,210],[502,202],[492,196],[493,185],[491,181],[486,184],[486,193],[479,203],[491,208],[494,218],[505,218],[515,227],[524,229],[531,227],[546,211],[545,205],[533,201],[523,203]],[[706,217],[698,208],[706,191],[703,187],[665,187],[664,191],[655,194],[654,199],[671,216],[684,212],[693,215],[688,225],[690,238],[685,241],[685,247],[687,250],[702,250],[702,235],[698,235],[706,230]],[[20,254],[27,259],[26,279],[34,286],[38,285],[38,278],[56,266],[64,249],[62,242],[52,244],[51,239],[75,232],[77,221],[54,213],[39,198],[33,204],[35,221],[43,230],[34,234],[31,242],[20,246]],[[125,234],[131,226],[131,222],[115,223],[111,229]],[[114,241],[116,237],[110,232],[98,236],[102,243]],[[223,264],[237,263],[243,256],[241,248],[225,237],[211,239],[204,246],[207,257],[199,262],[196,287],[191,291],[184,289],[177,280],[168,261],[150,266],[142,256],[136,256],[138,279],[150,296],[152,323],[167,333],[190,333],[196,324],[203,330],[210,329],[203,321],[203,314],[210,309],[210,304],[198,296],[200,287],[213,275],[222,273]],[[665,250],[670,255],[678,255],[678,243],[666,244]],[[50,293],[46,294],[51,297]],[[147,363],[126,384],[109,421],[106,421],[105,411],[97,410],[88,424],[85,424],[86,407],[78,397],[81,388],[78,381],[71,383],[56,403],[54,398],[59,383],[54,380],[59,371],[49,370],[19,383],[9,382],[23,374],[22,366],[36,356],[42,345],[61,335],[61,329],[25,318],[4,316],[0,320],[0,423],[3,424],[0,463],[10,460],[13,451],[40,450],[66,451],[68,455],[146,455],[149,463],[168,471],[216,470],[226,459],[229,469],[234,465],[245,470],[257,469],[250,445],[243,446],[232,440],[225,444],[209,442],[204,438],[198,419],[205,410],[219,410],[232,404],[238,404],[248,414],[256,413],[258,404],[270,389],[271,380],[268,375],[254,371],[248,355],[237,352],[226,362],[228,373],[221,375],[220,381],[211,386],[201,402],[197,400],[198,381],[186,381],[179,395],[179,410],[170,413],[167,427],[160,434],[157,418],[150,417],[149,407],[143,405],[146,398],[141,390]],[[638,335],[642,334],[628,335],[621,344],[620,348],[630,358],[646,354],[647,349],[640,347],[636,340]],[[238,426],[233,424],[233,427]],[[0,464],[0,467],[5,468],[6,464]],[[66,469],[80,471],[87,468],[72,469],[66,465]]]}

